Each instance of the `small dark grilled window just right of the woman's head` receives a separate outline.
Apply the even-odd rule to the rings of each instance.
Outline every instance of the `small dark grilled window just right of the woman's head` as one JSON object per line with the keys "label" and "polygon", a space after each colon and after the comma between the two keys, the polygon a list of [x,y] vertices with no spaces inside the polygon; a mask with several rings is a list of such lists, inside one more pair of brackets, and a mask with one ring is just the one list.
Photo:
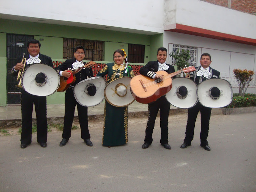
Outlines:
{"label": "small dark grilled window just right of the woman's head", "polygon": [[128,44],[128,62],[144,63],[145,45]]}

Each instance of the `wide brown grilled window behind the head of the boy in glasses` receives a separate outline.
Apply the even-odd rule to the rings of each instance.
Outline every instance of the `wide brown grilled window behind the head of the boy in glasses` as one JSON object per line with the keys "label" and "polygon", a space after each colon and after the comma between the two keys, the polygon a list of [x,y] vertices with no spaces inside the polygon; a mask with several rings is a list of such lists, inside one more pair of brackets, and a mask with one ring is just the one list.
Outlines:
{"label": "wide brown grilled window behind the head of the boy in glasses", "polygon": [[85,47],[85,59],[92,61],[103,61],[104,41],[93,41],[86,39],[63,39],[63,59],[74,58],[74,48],[78,45]]}

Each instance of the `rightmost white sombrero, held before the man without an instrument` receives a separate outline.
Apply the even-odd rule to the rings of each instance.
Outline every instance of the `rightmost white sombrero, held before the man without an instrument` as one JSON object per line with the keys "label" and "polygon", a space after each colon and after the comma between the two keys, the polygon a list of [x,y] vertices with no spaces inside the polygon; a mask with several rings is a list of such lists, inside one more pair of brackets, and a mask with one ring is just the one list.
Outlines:
{"label": "rightmost white sombrero, held before the man without an instrument", "polygon": [[225,79],[207,79],[197,86],[197,98],[205,107],[225,107],[232,102],[232,87]]}

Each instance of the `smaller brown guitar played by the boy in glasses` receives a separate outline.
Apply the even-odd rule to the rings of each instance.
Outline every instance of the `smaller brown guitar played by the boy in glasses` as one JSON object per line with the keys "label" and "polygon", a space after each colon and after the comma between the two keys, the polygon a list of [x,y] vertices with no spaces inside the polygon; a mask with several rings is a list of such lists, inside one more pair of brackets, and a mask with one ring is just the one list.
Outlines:
{"label": "smaller brown guitar played by the boy in glasses", "polygon": [[[70,77],[64,77],[61,76],[60,77],[60,85],[59,88],[57,89],[58,92],[64,92],[68,89],[68,87],[70,85],[72,85],[75,82],[75,74],[80,72],[82,69],[86,68],[86,67],[91,67],[95,64],[94,61],[90,61],[88,63],[86,63],[83,67],[80,67],[74,71],[72,71],[72,75]],[[71,71],[70,71],[71,72]]]}

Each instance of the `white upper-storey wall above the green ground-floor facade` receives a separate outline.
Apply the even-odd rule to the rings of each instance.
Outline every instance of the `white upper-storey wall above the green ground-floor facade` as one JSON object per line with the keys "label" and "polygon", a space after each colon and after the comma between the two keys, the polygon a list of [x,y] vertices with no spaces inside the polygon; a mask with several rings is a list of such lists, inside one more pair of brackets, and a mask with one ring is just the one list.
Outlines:
{"label": "white upper-storey wall above the green ground-floor facade", "polygon": [[[0,1],[0,14],[8,14],[10,19],[11,15],[18,15],[28,17],[28,20],[58,21],[54,24],[86,23],[92,28],[93,25],[102,25],[155,33],[163,32],[163,8],[164,0]],[[4,15],[1,16],[3,18]]]}

